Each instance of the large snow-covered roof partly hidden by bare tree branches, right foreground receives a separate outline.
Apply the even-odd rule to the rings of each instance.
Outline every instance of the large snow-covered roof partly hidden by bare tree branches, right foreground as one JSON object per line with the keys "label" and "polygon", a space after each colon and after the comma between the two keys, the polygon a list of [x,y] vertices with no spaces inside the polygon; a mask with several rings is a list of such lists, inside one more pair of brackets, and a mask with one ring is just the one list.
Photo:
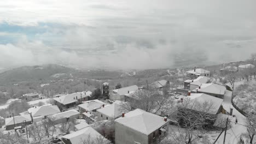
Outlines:
{"label": "large snow-covered roof partly hidden by bare tree branches, right foreground", "polygon": [[[200,104],[203,104],[205,102],[212,102],[212,104],[214,106],[212,107],[211,111],[209,111],[209,113],[212,113],[214,115],[218,112],[219,107],[220,107],[220,105],[222,105],[222,102],[223,102],[223,99],[213,97],[212,95],[208,95],[208,94],[204,94],[204,93],[191,93],[190,96],[185,97],[185,98],[195,100]],[[196,108],[196,107],[194,107],[194,108]]]}

